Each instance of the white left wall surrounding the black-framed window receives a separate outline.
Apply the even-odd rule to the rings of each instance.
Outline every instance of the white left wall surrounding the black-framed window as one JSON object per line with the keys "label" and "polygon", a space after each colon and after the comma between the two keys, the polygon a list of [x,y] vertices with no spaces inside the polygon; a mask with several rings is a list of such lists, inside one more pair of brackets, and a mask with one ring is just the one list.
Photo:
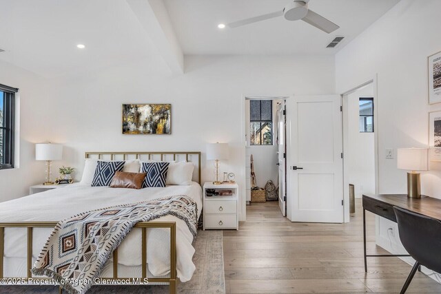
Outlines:
{"label": "white left wall surrounding the black-framed window", "polygon": [[0,83],[19,88],[19,168],[0,170],[0,202],[28,194],[29,186],[44,182],[44,162],[37,162],[34,143],[46,140],[48,120],[48,80],[0,61]]}

